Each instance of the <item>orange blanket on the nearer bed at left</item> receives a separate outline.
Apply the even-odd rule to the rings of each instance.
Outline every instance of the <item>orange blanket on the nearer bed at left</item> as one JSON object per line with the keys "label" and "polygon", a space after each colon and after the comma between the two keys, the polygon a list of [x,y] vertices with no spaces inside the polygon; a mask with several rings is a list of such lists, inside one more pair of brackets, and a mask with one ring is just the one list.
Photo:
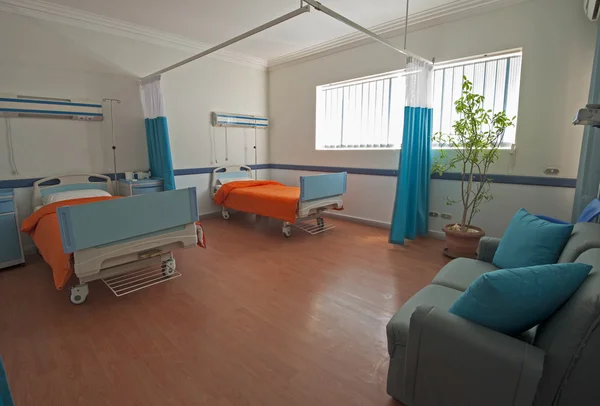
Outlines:
{"label": "orange blanket on the nearer bed at left", "polygon": [[111,199],[119,199],[119,197],[86,197],[52,203],[33,212],[21,224],[21,231],[33,238],[33,242],[35,242],[44,261],[52,268],[56,289],[62,289],[73,274],[71,254],[65,254],[62,247],[56,209],[63,206],[76,206]]}

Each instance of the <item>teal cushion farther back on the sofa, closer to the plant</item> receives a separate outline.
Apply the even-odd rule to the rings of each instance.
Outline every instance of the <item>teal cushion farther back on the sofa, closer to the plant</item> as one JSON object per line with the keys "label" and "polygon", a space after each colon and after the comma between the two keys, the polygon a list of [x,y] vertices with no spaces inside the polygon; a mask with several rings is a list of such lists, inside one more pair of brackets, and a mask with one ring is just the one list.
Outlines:
{"label": "teal cushion farther back on the sofa, closer to the plant", "polygon": [[492,263],[498,268],[555,264],[573,224],[555,224],[521,209],[510,221]]}

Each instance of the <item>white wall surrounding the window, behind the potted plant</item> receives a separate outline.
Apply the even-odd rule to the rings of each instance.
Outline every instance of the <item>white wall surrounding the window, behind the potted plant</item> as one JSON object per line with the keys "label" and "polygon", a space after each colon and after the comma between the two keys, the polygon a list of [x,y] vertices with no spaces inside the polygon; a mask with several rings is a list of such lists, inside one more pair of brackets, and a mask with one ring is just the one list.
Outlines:
{"label": "white wall surrounding the window, behind the potted plant", "polygon": [[[410,50],[437,61],[523,48],[517,153],[501,153],[492,172],[544,176],[546,167],[560,168],[560,177],[575,178],[582,128],[571,125],[575,111],[586,104],[596,38],[578,2],[531,0],[486,14],[409,34]],[[401,37],[393,38],[402,44]],[[395,169],[399,151],[316,151],[315,87],[331,82],[401,69],[403,58],[372,44],[274,69],[269,75],[271,161]],[[295,179],[298,172],[272,170],[276,179]],[[350,176],[346,214],[389,222],[395,178]],[[452,213],[443,196],[453,195],[458,182],[433,181],[431,209]],[[490,235],[501,235],[518,207],[569,219],[573,189],[495,185],[495,200],[483,208],[476,223]],[[375,196],[375,198],[374,198]],[[434,219],[431,229],[445,220]]]}

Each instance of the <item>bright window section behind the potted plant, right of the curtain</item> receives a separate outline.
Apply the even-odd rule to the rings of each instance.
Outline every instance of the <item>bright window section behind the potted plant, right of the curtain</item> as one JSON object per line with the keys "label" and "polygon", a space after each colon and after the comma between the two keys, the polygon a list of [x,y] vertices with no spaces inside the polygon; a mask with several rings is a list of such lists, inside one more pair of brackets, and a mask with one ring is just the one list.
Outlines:
{"label": "bright window section behind the potted plant, right of the curtain", "polygon": [[[473,91],[485,96],[485,109],[517,115],[521,80],[521,52],[443,64],[434,68],[433,132],[452,134],[457,119],[454,102],[460,98],[462,78],[473,82]],[[504,133],[501,148],[515,143],[516,125]]]}

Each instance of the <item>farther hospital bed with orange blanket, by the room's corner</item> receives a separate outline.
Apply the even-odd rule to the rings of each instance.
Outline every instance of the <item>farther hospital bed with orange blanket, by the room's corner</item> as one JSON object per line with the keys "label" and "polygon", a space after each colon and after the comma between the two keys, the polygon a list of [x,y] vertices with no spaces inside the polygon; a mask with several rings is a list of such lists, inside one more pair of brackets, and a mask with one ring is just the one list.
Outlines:
{"label": "farther hospital bed with orange blanket, by the room's corner", "polygon": [[[225,220],[231,209],[276,218],[283,221],[283,235],[290,237],[291,226],[298,219],[316,217],[316,229],[325,229],[322,213],[343,209],[346,178],[346,172],[301,176],[298,188],[255,181],[248,166],[221,166],[212,172],[211,195]],[[231,185],[235,188],[229,188]],[[227,197],[220,193],[222,188],[228,188]]]}

